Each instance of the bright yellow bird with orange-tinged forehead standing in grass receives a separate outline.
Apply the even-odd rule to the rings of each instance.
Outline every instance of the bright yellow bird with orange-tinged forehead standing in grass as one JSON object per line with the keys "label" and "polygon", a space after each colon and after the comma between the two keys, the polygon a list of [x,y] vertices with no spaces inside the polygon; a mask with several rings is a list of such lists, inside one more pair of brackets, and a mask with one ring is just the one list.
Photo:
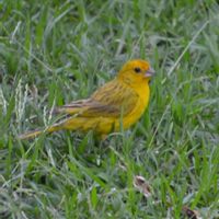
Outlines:
{"label": "bright yellow bird with orange-tinged forehead standing in grass", "polygon": [[112,81],[97,89],[89,99],[74,101],[56,110],[65,115],[60,122],[45,130],[34,130],[20,136],[34,138],[43,131],[61,129],[88,131],[105,136],[112,131],[129,128],[148,106],[149,81],[154,70],[148,61],[127,61]]}

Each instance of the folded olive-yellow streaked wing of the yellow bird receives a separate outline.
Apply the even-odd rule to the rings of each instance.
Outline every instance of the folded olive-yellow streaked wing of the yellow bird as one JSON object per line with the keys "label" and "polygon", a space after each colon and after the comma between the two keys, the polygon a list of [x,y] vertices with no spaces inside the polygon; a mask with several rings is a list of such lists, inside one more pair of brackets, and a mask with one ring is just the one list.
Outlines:
{"label": "folded olive-yellow streaked wing of the yellow bird", "polygon": [[130,113],[138,100],[132,89],[114,80],[100,88],[90,99],[64,105],[57,112],[83,117],[119,117]]}

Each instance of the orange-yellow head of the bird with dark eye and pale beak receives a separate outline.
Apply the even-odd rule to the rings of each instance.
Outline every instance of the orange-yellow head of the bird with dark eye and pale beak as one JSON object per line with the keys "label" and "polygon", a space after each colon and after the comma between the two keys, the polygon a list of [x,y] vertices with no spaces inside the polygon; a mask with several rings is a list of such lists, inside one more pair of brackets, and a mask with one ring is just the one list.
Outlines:
{"label": "orange-yellow head of the bird with dark eye and pale beak", "polygon": [[118,79],[131,87],[138,87],[150,81],[154,70],[148,61],[134,59],[127,61],[118,72]]}

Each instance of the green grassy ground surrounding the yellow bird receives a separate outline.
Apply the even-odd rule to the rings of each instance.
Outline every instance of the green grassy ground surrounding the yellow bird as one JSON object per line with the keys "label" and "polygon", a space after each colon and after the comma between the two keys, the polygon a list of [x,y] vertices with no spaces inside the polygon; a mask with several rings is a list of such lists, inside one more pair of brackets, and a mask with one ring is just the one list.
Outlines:
{"label": "green grassy ground surrounding the yellow bird", "polygon": [[[184,206],[219,217],[217,1],[3,0],[0,11],[1,218],[185,218]],[[130,130],[18,139],[138,57],[157,76]]]}

